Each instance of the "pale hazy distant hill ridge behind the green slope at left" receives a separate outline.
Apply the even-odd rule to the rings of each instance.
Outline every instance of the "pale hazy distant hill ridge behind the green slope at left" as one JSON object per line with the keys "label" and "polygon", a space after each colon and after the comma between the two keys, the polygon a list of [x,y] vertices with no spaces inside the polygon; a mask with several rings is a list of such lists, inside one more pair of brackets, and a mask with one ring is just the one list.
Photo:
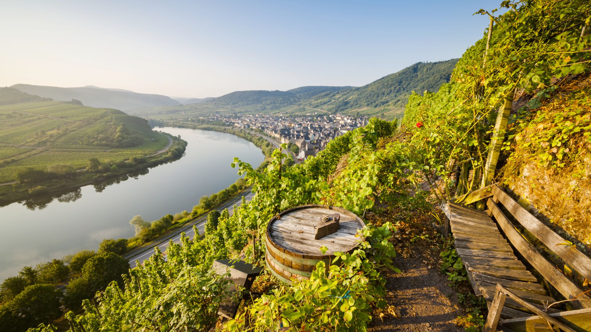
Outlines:
{"label": "pale hazy distant hill ridge behind the green slope at left", "polygon": [[86,87],[54,87],[30,84],[11,86],[30,95],[51,98],[53,100],[80,100],[86,106],[96,108],[115,108],[121,110],[145,108],[152,106],[180,105],[176,100],[162,95],[129,92],[119,89],[103,89],[93,86]]}

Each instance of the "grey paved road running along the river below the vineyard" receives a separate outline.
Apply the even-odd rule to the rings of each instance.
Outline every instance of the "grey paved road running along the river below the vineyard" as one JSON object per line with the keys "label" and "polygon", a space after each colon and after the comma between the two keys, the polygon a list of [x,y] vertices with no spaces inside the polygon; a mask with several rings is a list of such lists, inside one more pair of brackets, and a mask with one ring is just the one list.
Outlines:
{"label": "grey paved road running along the river below the vineyard", "polygon": [[[240,196],[238,196],[235,199],[233,199],[232,201],[230,201],[230,203],[219,207],[217,210],[222,211],[223,209],[228,209],[228,211],[230,212],[230,215],[232,215],[234,213],[234,211],[233,211],[234,204],[236,204],[236,206],[240,206],[242,203],[242,196],[245,196],[246,201],[251,201],[252,197],[254,196],[254,193],[252,193],[252,191],[249,188],[244,193],[242,193]],[[198,220],[194,220],[193,222],[191,222],[187,226],[182,227],[181,229],[176,230],[173,234],[167,236],[165,239],[161,240],[160,242],[155,243],[150,248],[146,248],[144,250],[141,250],[141,252],[134,252],[134,253],[131,253],[128,255],[124,255],[124,257],[129,260],[129,265],[132,268],[135,268],[135,266],[137,266],[135,261],[137,260],[137,261],[139,261],[139,263],[142,263],[146,259],[150,258],[150,256],[152,256],[152,254],[154,253],[155,246],[158,246],[160,248],[160,250],[165,253],[166,248],[168,248],[168,243],[169,243],[170,239],[173,239],[174,243],[180,243],[181,242],[180,241],[181,232],[185,232],[185,234],[192,239],[195,236],[194,232],[193,232],[193,225],[197,226],[197,230],[199,231],[200,234],[203,234],[206,221],[207,221],[207,215],[198,219]]]}

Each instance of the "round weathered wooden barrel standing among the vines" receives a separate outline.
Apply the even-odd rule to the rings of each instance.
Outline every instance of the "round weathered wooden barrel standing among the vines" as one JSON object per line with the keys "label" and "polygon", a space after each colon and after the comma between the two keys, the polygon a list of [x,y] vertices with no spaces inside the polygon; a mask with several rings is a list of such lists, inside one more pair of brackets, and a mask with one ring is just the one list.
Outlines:
{"label": "round weathered wooden barrel standing among the vines", "polygon": [[[339,229],[336,233],[314,240],[316,226],[326,215],[339,213]],[[363,220],[341,207],[304,205],[285,210],[273,217],[267,225],[267,252],[269,270],[281,281],[291,285],[291,278],[310,279],[316,263],[324,261],[329,266],[335,252],[350,252],[359,245],[355,237],[358,229],[365,227]],[[326,253],[320,247],[328,248]]]}

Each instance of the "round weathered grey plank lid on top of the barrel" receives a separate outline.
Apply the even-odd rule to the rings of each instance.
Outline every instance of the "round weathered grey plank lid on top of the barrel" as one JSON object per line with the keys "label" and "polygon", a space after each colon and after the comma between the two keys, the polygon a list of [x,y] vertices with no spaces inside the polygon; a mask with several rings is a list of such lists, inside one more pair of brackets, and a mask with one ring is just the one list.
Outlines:
{"label": "round weathered grey plank lid on top of the barrel", "polygon": [[[336,233],[314,240],[316,226],[322,216],[340,214]],[[348,252],[359,245],[358,229],[365,227],[355,213],[342,207],[310,204],[285,210],[273,217],[267,225],[267,239],[275,248],[291,256],[308,259],[328,259],[335,252]],[[325,254],[320,247],[328,250]]]}

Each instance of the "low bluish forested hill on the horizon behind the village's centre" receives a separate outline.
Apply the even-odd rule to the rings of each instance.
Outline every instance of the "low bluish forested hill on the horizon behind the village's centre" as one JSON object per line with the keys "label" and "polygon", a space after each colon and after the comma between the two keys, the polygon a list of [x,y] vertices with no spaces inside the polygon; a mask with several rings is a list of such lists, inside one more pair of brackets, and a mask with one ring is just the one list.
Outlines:
{"label": "low bluish forested hill on the horizon behind the village's centre", "polygon": [[248,90],[235,91],[217,97],[212,102],[221,105],[252,106],[261,105],[270,108],[281,108],[294,105],[302,100],[319,95],[321,93],[336,92],[348,89],[349,86],[302,86],[287,91],[280,90]]}

